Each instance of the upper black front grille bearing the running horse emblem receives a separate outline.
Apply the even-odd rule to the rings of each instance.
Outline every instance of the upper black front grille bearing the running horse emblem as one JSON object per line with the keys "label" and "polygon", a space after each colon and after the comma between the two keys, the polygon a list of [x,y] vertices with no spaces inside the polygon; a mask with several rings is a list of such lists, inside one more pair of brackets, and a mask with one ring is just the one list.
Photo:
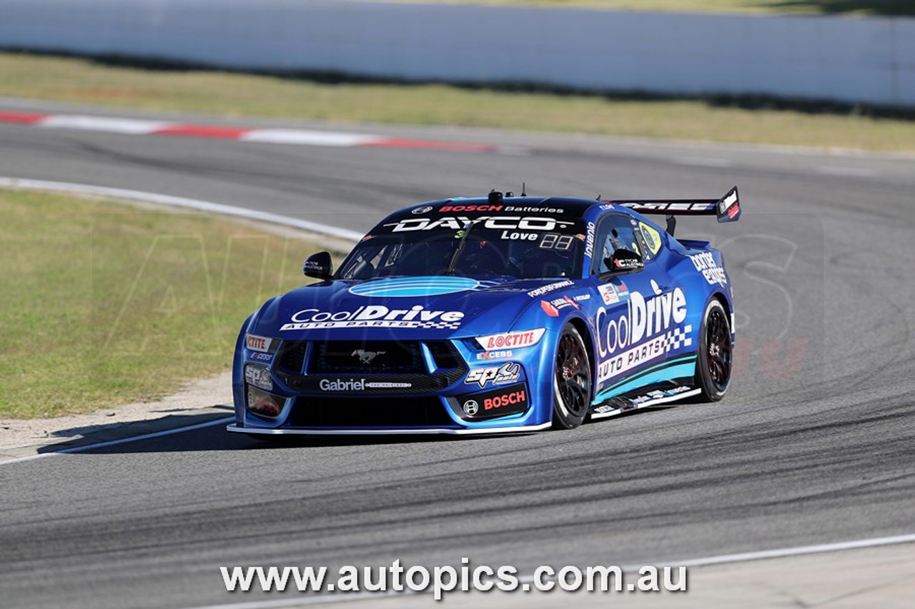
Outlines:
{"label": "upper black front grille bearing the running horse emblem", "polygon": [[426,372],[415,341],[334,340],[316,343],[309,374],[403,374]]}

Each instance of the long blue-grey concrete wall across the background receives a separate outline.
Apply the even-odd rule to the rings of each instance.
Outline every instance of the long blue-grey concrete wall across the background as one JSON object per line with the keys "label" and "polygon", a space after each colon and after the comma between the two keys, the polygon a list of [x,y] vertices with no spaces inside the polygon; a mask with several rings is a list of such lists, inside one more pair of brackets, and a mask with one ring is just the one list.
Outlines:
{"label": "long blue-grey concrete wall across the background", "polygon": [[913,18],[347,0],[0,0],[0,47],[232,69],[915,106]]}

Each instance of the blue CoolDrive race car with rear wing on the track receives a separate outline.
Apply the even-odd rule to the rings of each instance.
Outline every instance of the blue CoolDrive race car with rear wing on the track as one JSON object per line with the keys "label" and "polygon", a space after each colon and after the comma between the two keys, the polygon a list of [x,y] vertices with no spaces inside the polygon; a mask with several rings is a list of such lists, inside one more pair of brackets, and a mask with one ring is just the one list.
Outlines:
{"label": "blue CoolDrive race car with rear wing on the track", "polygon": [[[509,433],[571,429],[691,396],[720,400],[734,305],[721,253],[677,215],[724,198],[449,198],[394,212],[337,272],[242,326],[229,431]],[[666,216],[662,229],[646,216]]]}

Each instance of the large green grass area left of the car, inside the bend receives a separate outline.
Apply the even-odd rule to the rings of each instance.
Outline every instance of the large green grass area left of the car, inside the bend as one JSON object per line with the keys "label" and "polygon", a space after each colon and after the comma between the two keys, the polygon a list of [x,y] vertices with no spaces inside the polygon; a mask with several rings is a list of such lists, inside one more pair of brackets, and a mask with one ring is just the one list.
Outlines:
{"label": "large green grass area left of the car, inside the bend", "polygon": [[231,366],[318,246],[187,213],[0,191],[0,419],[149,400]]}

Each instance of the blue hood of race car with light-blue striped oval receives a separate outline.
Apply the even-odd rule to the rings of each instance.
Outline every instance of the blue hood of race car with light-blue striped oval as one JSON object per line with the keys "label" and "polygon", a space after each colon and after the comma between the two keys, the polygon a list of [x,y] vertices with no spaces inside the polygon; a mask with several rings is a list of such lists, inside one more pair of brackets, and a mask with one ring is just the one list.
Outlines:
{"label": "blue hood of race car with light-blue striped oval", "polygon": [[561,282],[443,276],[313,283],[267,302],[249,332],[284,340],[440,340],[497,334],[510,330],[527,307],[540,302],[538,288]]}

